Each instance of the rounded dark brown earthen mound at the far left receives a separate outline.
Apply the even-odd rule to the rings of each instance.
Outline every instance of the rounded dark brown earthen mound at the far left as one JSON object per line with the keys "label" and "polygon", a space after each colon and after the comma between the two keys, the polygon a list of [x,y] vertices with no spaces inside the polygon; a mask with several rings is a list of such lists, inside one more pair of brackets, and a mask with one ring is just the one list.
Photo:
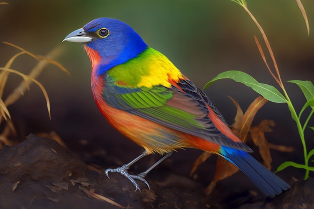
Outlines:
{"label": "rounded dark brown earthen mound at the far left", "polygon": [[82,175],[87,165],[58,142],[30,134],[16,146],[0,150],[0,175],[13,181],[28,176],[34,180],[62,180]]}

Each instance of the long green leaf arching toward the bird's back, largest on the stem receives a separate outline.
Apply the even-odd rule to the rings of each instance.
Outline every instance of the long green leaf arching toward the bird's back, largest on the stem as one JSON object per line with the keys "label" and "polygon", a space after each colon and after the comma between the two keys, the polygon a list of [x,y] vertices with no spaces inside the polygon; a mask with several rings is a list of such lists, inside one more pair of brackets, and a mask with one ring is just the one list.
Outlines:
{"label": "long green leaf arching toward the bird's back, largest on the stem", "polygon": [[275,102],[275,103],[286,103],[287,100],[284,98],[284,96],[273,86],[264,84],[264,83],[258,83],[252,76],[241,72],[241,71],[235,71],[230,70],[223,73],[220,73],[218,76],[213,78],[211,81],[209,81],[205,86],[204,89],[209,87],[211,84],[213,84],[215,81],[220,79],[232,79],[236,82],[242,83],[248,87],[251,87],[254,91],[262,95],[265,99]]}

